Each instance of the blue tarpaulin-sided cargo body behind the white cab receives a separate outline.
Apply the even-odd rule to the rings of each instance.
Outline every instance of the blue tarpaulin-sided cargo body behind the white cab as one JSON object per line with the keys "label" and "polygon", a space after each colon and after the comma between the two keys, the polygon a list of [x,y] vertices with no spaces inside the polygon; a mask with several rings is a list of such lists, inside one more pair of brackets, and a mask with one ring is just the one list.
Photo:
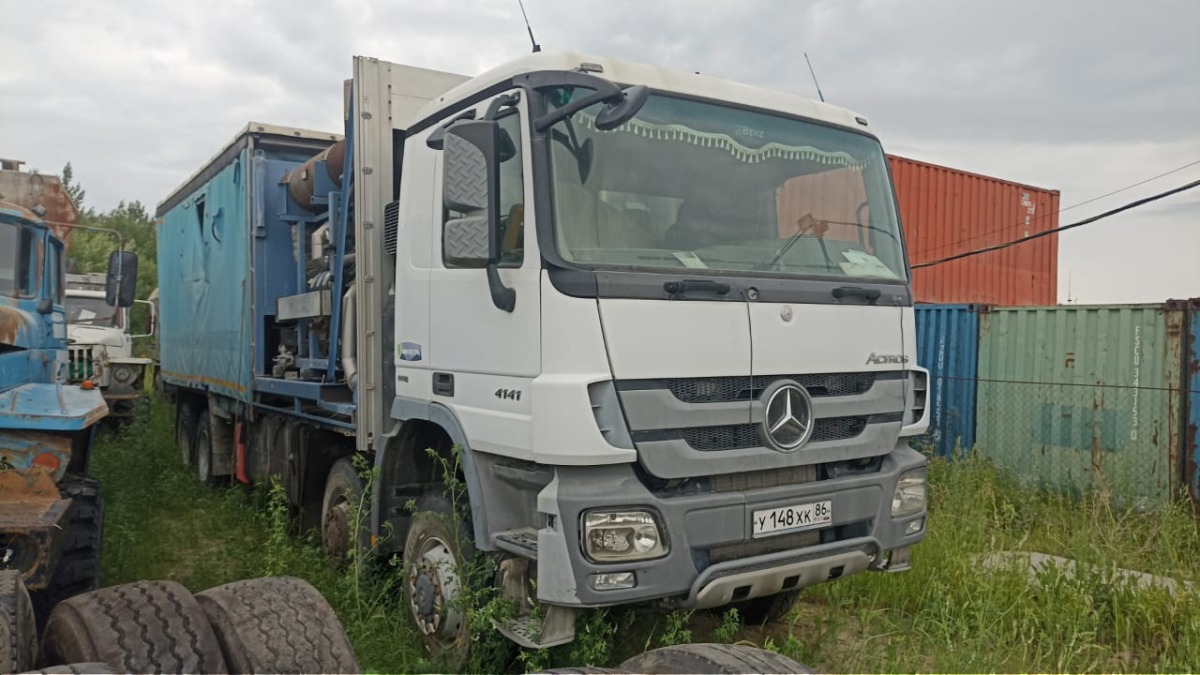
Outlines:
{"label": "blue tarpaulin-sided cargo body behind the white cab", "polygon": [[264,339],[276,300],[304,289],[293,229],[276,214],[283,177],[332,143],[250,125],[160,209],[163,382],[252,402],[275,353]]}

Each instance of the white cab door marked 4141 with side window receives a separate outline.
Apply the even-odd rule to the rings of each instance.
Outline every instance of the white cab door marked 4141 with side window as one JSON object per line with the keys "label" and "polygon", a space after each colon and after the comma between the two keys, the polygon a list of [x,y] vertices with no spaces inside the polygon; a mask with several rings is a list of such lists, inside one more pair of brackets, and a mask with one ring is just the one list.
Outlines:
{"label": "white cab door marked 4141 with side window", "polygon": [[[476,119],[491,102],[479,103]],[[440,214],[440,223],[431,241],[430,345],[424,351],[432,370],[432,400],[455,412],[472,449],[532,458],[532,383],[541,372],[541,265],[524,97],[502,107],[496,120],[516,150],[499,165],[498,265],[500,281],[516,293],[516,305],[512,311],[496,305],[486,270],[445,262],[442,228],[452,214],[443,208],[438,153],[433,214]]]}

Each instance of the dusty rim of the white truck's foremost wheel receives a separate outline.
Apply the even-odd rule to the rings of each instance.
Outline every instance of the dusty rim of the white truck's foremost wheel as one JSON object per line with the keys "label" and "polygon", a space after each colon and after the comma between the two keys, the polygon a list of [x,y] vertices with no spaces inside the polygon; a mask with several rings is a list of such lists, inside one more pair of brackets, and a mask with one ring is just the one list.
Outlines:
{"label": "dusty rim of the white truck's foremost wheel", "polygon": [[458,561],[439,537],[421,542],[408,568],[408,603],[426,639],[448,645],[458,638],[463,621]]}

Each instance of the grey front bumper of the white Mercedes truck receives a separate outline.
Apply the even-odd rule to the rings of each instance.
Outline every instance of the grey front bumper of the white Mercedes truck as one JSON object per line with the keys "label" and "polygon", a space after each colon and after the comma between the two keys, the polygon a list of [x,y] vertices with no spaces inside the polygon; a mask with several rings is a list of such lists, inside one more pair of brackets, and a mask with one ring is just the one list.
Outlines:
{"label": "grey front bumper of the white Mercedes truck", "polygon": [[[652,494],[631,465],[556,468],[539,495],[552,515],[538,537],[538,597],[574,607],[605,607],[667,599],[682,608],[720,607],[768,596],[865,569],[886,569],[889,551],[925,536],[925,512],[893,519],[892,494],[905,471],[925,458],[901,440],[880,471],[744,492],[664,497]],[[818,528],[751,537],[755,510],[817,501],[832,503],[833,520]],[[595,563],[584,557],[583,513],[594,509],[650,510],[670,552],[658,560]],[[920,528],[905,533],[912,521]],[[632,589],[598,591],[593,574],[631,572]]]}

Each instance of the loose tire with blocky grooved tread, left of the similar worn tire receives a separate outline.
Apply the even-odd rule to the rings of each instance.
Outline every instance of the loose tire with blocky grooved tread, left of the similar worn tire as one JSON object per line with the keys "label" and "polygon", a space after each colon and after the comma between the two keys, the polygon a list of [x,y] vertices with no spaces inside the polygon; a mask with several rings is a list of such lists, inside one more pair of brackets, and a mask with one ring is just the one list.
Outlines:
{"label": "loose tire with blocky grooved tread, left of the similar worn tire", "polygon": [[59,603],[42,665],[103,662],[120,673],[226,673],[208,616],[175,581],[134,581]]}

